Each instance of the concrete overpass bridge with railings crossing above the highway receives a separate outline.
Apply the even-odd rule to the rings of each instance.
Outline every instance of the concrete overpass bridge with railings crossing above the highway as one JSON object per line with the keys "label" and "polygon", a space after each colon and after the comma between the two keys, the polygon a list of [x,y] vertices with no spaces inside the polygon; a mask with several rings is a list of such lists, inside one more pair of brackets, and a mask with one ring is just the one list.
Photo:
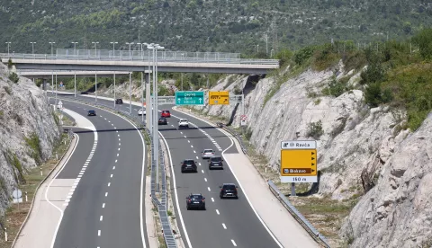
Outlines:
{"label": "concrete overpass bridge with railings crossing above the highway", "polygon": [[[80,52],[82,51],[82,52]],[[232,55],[232,54],[228,54]],[[267,74],[279,68],[277,59],[249,59],[226,53],[157,51],[158,72]],[[0,54],[4,64],[12,59],[17,70],[143,72],[151,65],[145,51],[58,49],[47,54]]]}

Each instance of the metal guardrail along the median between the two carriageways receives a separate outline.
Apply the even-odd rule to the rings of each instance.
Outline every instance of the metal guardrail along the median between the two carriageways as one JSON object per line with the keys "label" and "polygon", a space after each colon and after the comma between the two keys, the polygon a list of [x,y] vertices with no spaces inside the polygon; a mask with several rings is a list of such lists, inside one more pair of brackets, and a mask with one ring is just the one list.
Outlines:
{"label": "metal guardrail along the median between the two carriageways", "polygon": [[[75,102],[85,102],[86,104],[97,106],[97,107],[104,107],[108,108],[112,111],[116,111],[118,113],[121,113],[122,115],[125,115],[129,120],[131,120],[138,128],[145,128],[148,137],[150,139],[150,147],[153,145],[153,137],[150,135],[150,131],[148,128],[146,128],[146,121],[141,121],[141,117],[136,117],[130,115],[128,111],[121,111],[120,109],[117,109],[113,107],[112,105],[107,105],[101,102],[95,102],[95,101],[88,101],[84,99],[76,99],[74,95],[70,96],[58,96],[58,99],[65,99],[68,101],[75,101]],[[161,190],[160,190],[160,198],[161,200],[157,199],[156,193],[158,192],[157,185],[156,185],[156,164],[153,157],[153,153],[151,153],[151,199],[153,204],[157,207],[157,212],[159,214],[160,223],[162,226],[164,238],[166,247],[168,248],[176,248],[177,244],[175,242],[175,236],[173,234],[173,229],[171,228],[171,225],[169,223],[169,217],[167,213],[167,191],[166,191],[166,171],[165,171],[165,159],[164,159],[164,153],[161,149],[160,142],[159,144],[159,151],[161,151],[157,155],[157,159],[159,159],[159,172],[161,175]]]}

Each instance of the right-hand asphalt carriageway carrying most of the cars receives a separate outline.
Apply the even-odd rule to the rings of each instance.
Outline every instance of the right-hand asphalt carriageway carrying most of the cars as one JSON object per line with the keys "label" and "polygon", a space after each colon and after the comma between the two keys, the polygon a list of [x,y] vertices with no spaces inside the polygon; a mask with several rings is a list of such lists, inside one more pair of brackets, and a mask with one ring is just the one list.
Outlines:
{"label": "right-hand asphalt carriageway carrying most of the cars", "polygon": [[[68,96],[73,98],[73,96]],[[91,98],[77,95],[86,101]],[[112,104],[112,101],[98,99],[98,102]],[[129,111],[129,103],[117,105],[123,111]],[[184,244],[189,248],[196,247],[280,247],[260,222],[254,210],[238,188],[239,199],[220,199],[219,186],[224,182],[238,185],[235,177],[225,165],[224,170],[209,171],[207,160],[202,160],[201,152],[204,148],[212,148],[216,155],[222,153],[238,153],[232,141],[217,128],[211,127],[202,120],[191,118],[172,109],[173,106],[159,106],[159,111],[170,110],[172,117],[167,118],[168,125],[159,125],[160,134],[166,140],[173,162],[175,173],[175,187],[179,206],[175,209],[179,228],[184,237]],[[139,107],[132,106],[132,113],[137,114]],[[177,129],[178,118],[189,120],[198,128]],[[101,144],[101,142],[99,142]],[[193,158],[199,163],[198,173],[181,173],[180,162],[186,158]],[[106,160],[107,162],[109,159]],[[235,164],[230,164],[235,166]],[[171,177],[173,180],[174,177]],[[174,182],[171,184],[174,185]],[[174,191],[172,199],[175,199]],[[185,197],[189,193],[202,193],[206,198],[207,210],[186,210]],[[101,194],[103,190],[101,189]],[[187,235],[181,223],[184,223]],[[59,246],[58,246],[59,247]],[[105,247],[105,246],[101,246]],[[113,247],[113,246],[108,246]],[[130,247],[130,246],[122,246]]]}

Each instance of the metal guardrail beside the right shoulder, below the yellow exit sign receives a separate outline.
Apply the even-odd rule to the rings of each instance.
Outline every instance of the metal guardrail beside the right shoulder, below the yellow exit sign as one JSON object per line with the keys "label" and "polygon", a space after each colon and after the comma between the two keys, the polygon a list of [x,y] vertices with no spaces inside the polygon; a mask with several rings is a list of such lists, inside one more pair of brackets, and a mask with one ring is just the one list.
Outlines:
{"label": "metal guardrail beside the right shoulder, below the yellow exit sign", "polygon": [[273,192],[273,194],[276,196],[277,199],[279,199],[282,204],[284,204],[284,207],[293,215],[293,217],[303,226],[305,227],[305,230],[308,231],[315,239],[317,239],[319,242],[324,244],[326,247],[330,247],[329,242],[327,241],[326,237],[324,235],[321,235],[320,232],[311,225],[311,223],[303,217],[302,213],[297,210],[291,204],[291,202],[285,197],[284,193],[282,193],[274,182],[271,180],[268,181],[268,186],[270,190]]}

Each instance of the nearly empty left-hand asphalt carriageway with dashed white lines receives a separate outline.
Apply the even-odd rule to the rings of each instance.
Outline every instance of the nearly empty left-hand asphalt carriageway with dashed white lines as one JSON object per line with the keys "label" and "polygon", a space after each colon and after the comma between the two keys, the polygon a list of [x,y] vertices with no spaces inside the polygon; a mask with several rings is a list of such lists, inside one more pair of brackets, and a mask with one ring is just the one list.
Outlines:
{"label": "nearly empty left-hand asphalt carriageway with dashed white lines", "polygon": [[[84,104],[62,102],[84,116],[89,110]],[[97,116],[87,119],[97,132],[76,130],[80,136],[76,152],[58,174],[59,179],[79,182],[71,193],[54,247],[148,247],[141,212],[145,197],[143,138],[129,121],[92,109]]]}

